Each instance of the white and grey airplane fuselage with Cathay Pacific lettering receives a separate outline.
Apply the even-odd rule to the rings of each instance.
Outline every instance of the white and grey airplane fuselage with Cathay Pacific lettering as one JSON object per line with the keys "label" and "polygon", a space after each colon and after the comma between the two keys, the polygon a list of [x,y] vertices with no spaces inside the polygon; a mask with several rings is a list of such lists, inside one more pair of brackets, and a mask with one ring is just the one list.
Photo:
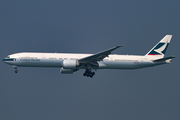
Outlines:
{"label": "white and grey airplane fuselage with Cathay Pacific lettering", "polygon": [[[72,54],[72,53],[16,53],[9,55],[5,63],[15,67],[63,67],[64,60],[78,60],[88,57],[92,54]],[[109,57],[98,61],[96,69],[137,69],[151,67],[155,65],[169,63],[153,62],[158,56],[135,56],[135,55],[116,55],[111,54]],[[7,60],[9,59],[9,60]],[[77,69],[86,69],[85,66],[77,66]]]}

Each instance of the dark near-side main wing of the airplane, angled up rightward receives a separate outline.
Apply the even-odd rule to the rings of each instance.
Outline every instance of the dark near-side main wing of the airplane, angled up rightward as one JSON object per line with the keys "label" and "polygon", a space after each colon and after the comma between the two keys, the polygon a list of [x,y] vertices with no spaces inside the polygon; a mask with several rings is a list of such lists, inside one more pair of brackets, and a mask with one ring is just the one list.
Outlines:
{"label": "dark near-side main wing of the airplane, angled up rightward", "polygon": [[113,47],[111,49],[93,54],[93,55],[85,57],[85,58],[81,58],[78,61],[79,61],[79,63],[85,63],[85,64],[86,63],[90,63],[90,64],[97,63],[97,61],[102,61],[105,57],[108,57],[108,55],[111,54],[112,51],[114,51],[115,49],[117,49],[119,47],[122,47],[122,45],[121,46],[119,45],[119,46]]}

